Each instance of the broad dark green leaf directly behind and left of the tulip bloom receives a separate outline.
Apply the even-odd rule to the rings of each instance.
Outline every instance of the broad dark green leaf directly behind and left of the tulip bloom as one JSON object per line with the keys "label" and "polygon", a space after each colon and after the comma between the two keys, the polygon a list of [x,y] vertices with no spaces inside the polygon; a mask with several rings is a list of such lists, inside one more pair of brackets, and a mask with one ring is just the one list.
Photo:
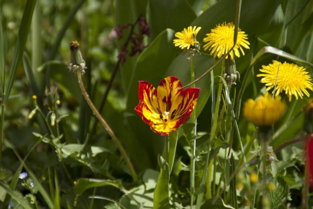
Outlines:
{"label": "broad dark green leaf directly behind and left of the tulip bloom", "polygon": [[126,110],[129,112],[126,119],[132,132],[126,141],[127,150],[134,159],[134,163],[139,170],[147,167],[155,167],[157,154],[162,152],[164,142],[162,137],[153,133],[149,125],[145,124],[134,112],[138,104],[138,81],[149,81],[155,87],[164,78],[164,74],[172,60],[179,53],[173,45],[174,31],[164,30],[156,39],[144,50],[137,59],[134,73],[130,81],[127,93]]}

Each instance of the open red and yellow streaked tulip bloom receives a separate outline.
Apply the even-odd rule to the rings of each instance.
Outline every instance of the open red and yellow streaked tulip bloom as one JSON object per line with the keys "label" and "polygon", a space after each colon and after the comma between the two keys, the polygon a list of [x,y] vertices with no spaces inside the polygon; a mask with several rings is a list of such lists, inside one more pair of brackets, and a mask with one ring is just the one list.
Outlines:
{"label": "open red and yellow streaked tulip bloom", "polygon": [[200,93],[199,88],[181,89],[178,78],[164,78],[157,89],[147,81],[139,81],[139,104],[136,113],[152,131],[167,136],[187,122]]}

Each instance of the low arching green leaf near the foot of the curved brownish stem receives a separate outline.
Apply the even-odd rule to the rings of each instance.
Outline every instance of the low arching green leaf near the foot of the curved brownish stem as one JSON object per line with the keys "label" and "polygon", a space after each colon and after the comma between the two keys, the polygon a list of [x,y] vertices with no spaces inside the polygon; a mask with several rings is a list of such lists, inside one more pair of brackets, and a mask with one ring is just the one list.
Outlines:
{"label": "low arching green leaf near the foot of the curved brownish stem", "polygon": [[74,186],[74,192],[77,195],[81,195],[85,190],[99,186],[114,186],[119,189],[123,188],[120,180],[112,181],[112,180],[82,178],[79,179],[77,181],[77,184]]}

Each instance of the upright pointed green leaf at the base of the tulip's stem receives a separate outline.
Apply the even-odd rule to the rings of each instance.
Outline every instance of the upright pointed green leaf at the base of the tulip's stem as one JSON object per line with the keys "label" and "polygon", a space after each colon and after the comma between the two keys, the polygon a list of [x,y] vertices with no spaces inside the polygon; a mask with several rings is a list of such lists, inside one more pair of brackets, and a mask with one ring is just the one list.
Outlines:
{"label": "upright pointed green leaf at the base of the tulip's stem", "polygon": [[153,208],[154,209],[168,209],[169,208],[169,181],[170,171],[169,166],[162,156],[158,156],[157,162],[161,168],[158,176],[156,189],[154,193]]}

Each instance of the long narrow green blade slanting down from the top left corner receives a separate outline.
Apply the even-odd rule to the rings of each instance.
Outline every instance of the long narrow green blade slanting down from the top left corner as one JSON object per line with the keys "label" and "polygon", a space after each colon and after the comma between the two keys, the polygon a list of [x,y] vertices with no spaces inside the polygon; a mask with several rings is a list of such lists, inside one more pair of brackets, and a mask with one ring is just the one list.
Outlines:
{"label": "long narrow green blade slanting down from the top left corner", "polygon": [[16,40],[16,45],[14,48],[13,61],[12,61],[11,68],[10,68],[9,81],[5,89],[3,103],[6,103],[6,101],[9,98],[9,95],[13,86],[13,82],[15,79],[15,73],[22,59],[22,55],[23,55],[24,47],[27,41],[27,36],[28,36],[29,27],[30,27],[32,16],[33,16],[35,4],[36,4],[36,0],[26,1],[26,5],[25,5],[23,17],[22,17],[22,22],[21,22],[21,27],[19,29],[18,39]]}

